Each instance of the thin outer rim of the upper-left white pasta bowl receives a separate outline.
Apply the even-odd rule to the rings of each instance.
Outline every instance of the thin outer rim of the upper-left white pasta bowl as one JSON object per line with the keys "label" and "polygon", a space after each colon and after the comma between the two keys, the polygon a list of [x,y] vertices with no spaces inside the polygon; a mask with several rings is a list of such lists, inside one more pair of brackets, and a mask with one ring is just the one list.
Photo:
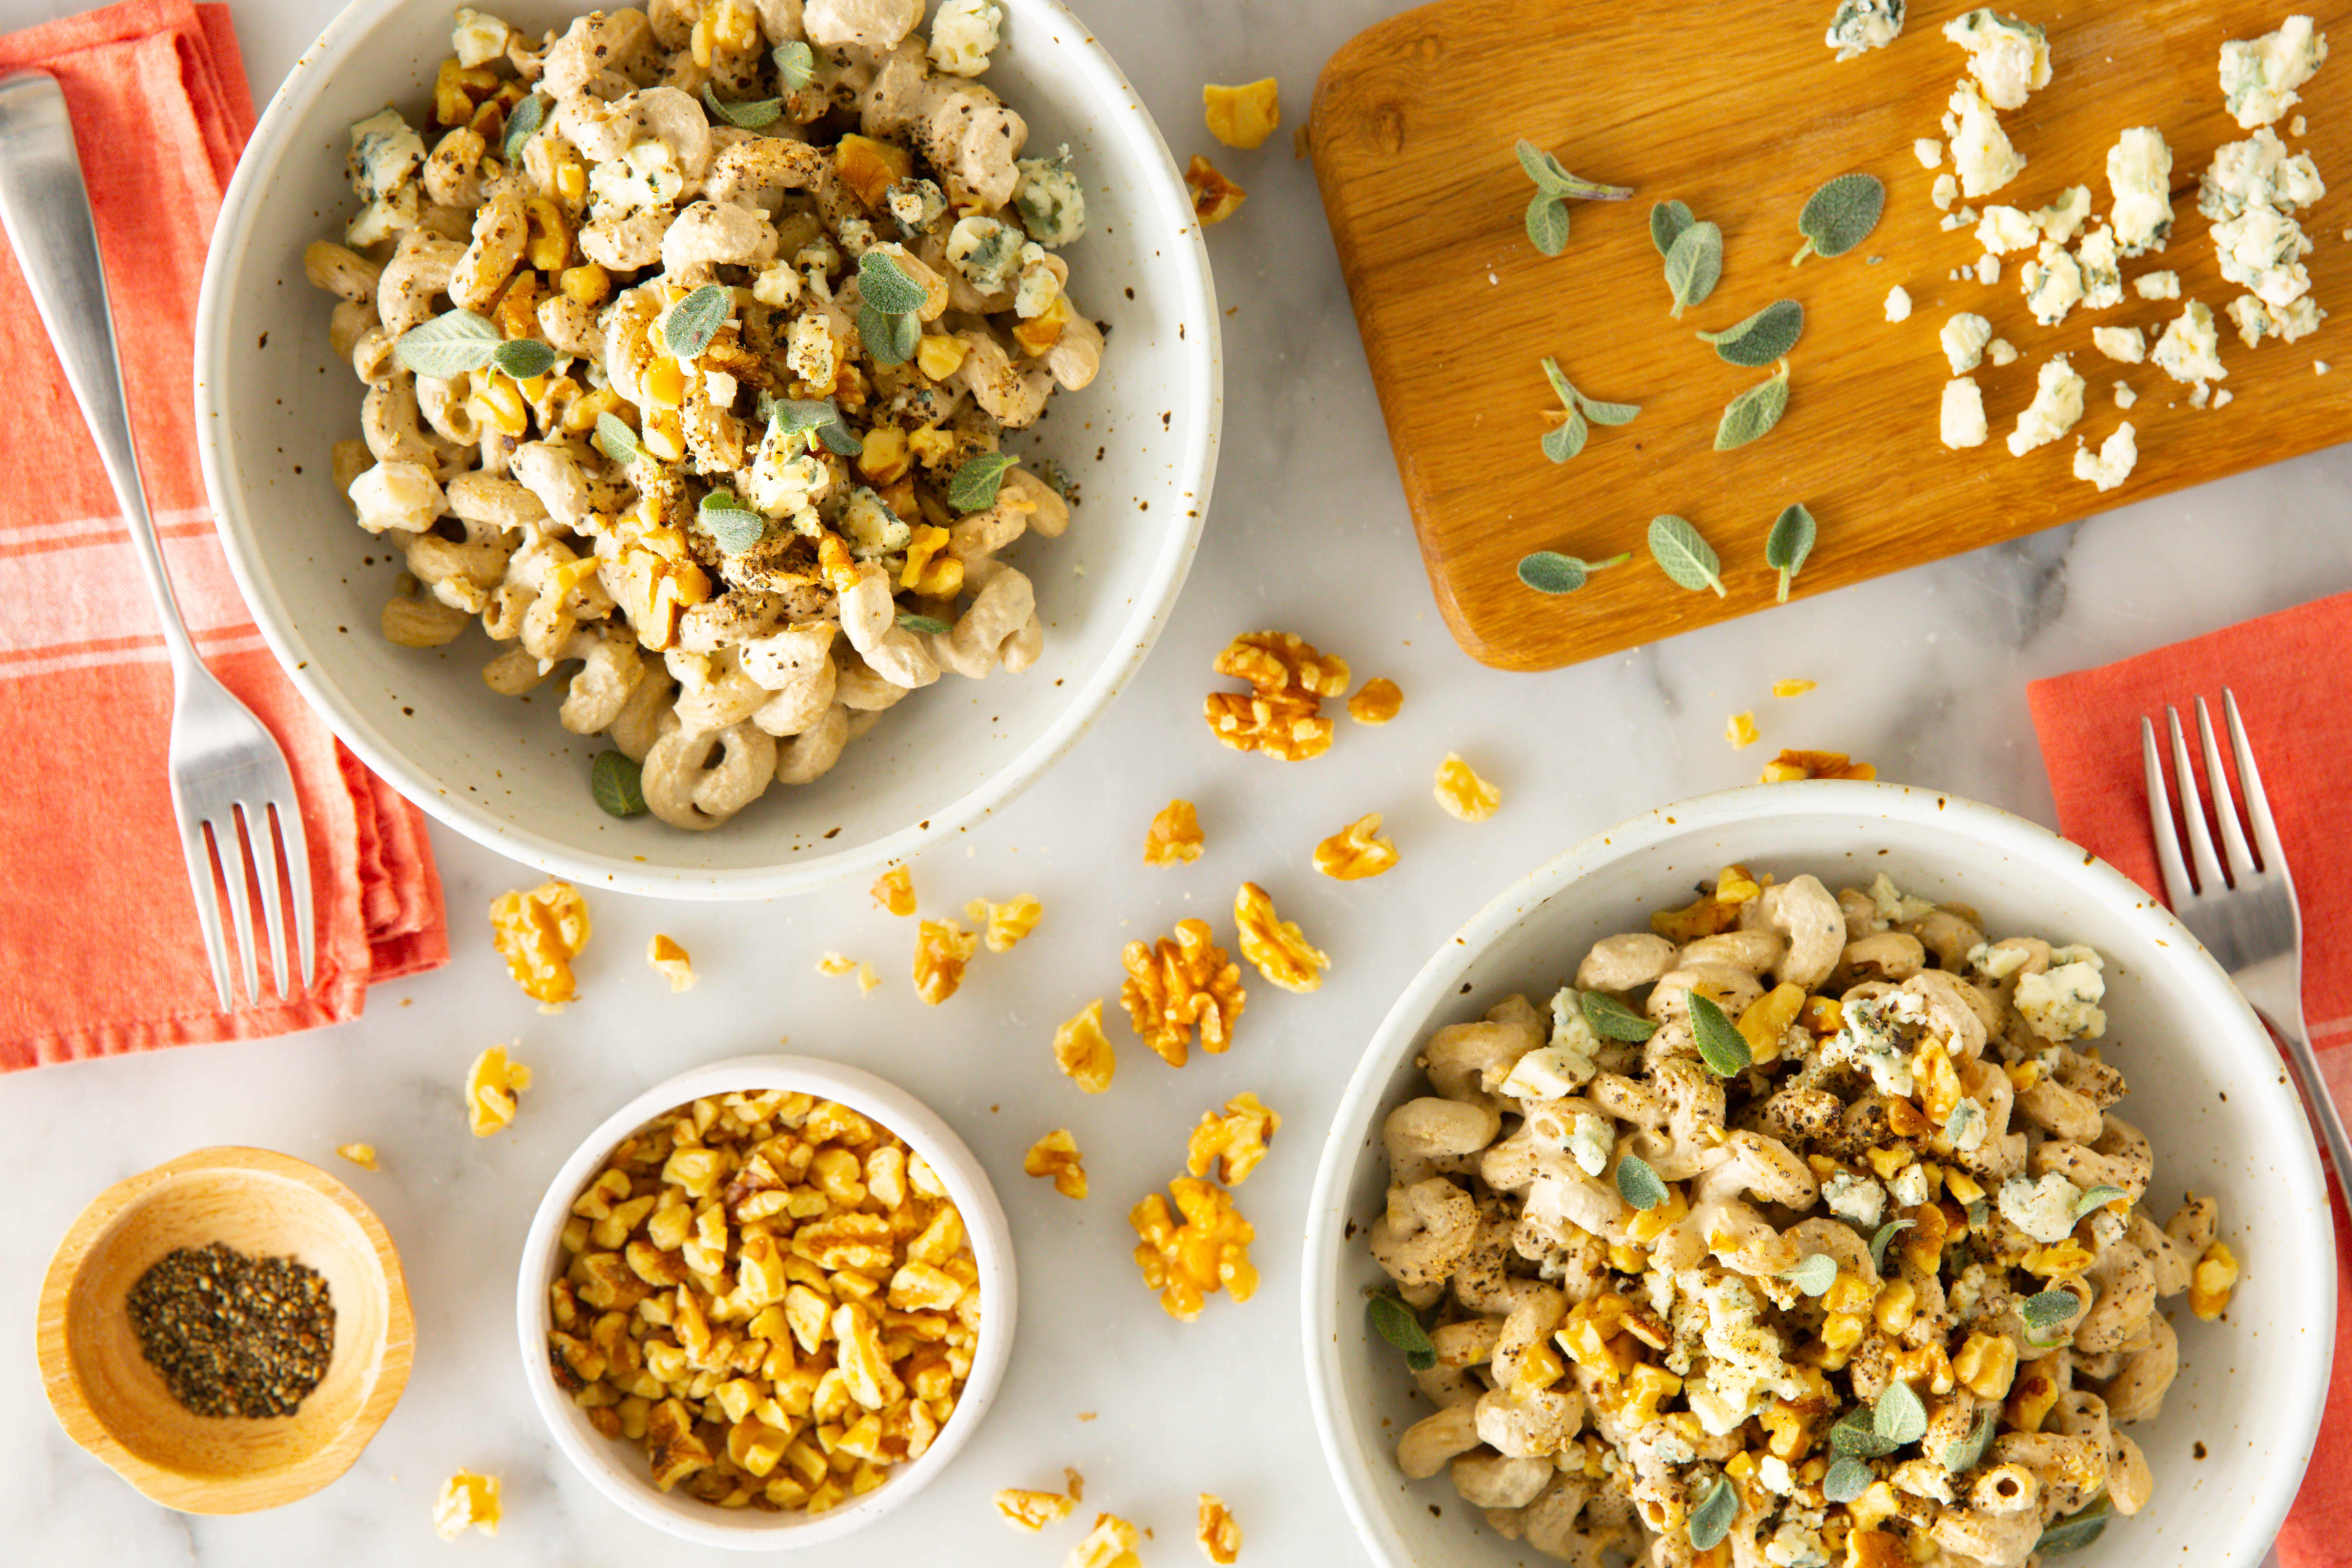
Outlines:
{"label": "thin outer rim of the upper-left white pasta bowl", "polygon": [[1018,757],[988,776],[976,790],[936,806],[917,825],[863,844],[844,844],[809,860],[743,870],[649,865],[635,856],[590,853],[557,844],[546,835],[524,832],[487,806],[461,799],[456,792],[445,790],[440,780],[409,766],[381,726],[320,679],[320,665],[287,616],[278,585],[259,559],[247,527],[242,475],[226,437],[228,416],[214,393],[233,374],[233,346],[228,343],[221,301],[228,299],[228,289],[245,273],[249,214],[259,207],[261,188],[289,150],[294,122],[329,89],[336,66],[367,40],[390,7],[383,0],[350,0],[327,24],[327,31],[318,35],[318,42],[294,61],[294,71],[270,94],[268,108],[245,143],[238,172],[221,197],[212,249],[205,256],[205,282],[195,303],[195,444],[205,468],[205,496],[212,503],[228,571],[235,576],[238,592],[245,595],[245,604],[254,616],[254,625],[261,628],[270,654],[278,656],[278,665],[287,672],[287,679],[327,719],[336,738],[405,799],[430,811],[468,839],[524,865],[621,893],[642,893],[649,898],[779,898],[807,893],[849,882],[889,860],[913,858],[938,839],[971,827],[1011,802],[1077,745],[1080,736],[1103,717],[1110,701],[1143,668],[1152,644],[1160,642],[1169,611],[1176,607],[1176,595],[1183,590],[1185,576],[1192,571],[1202,522],[1209,515],[1209,489],[1216,482],[1216,451],[1225,414],[1225,357],[1223,334],[1218,331],[1221,317],[1216,313],[1216,277],[1209,270],[1209,247],[1202,240],[1202,228],[1192,214],[1183,174],[1176,169],[1176,158],[1169,153],[1160,125],[1143,108],[1143,96],[1127,80],[1127,73],[1120,71],[1117,61],[1110,59],[1110,52],[1096,40],[1094,31],[1061,0],[1000,2],[1014,12],[1016,28],[1058,31],[1058,42],[1070,49],[1070,63],[1096,78],[1096,87],[1105,101],[1120,103],[1103,122],[1103,129],[1115,132],[1129,153],[1138,188],[1148,193],[1150,205],[1171,235],[1167,254],[1181,270],[1176,294],[1190,301],[1195,320],[1202,322],[1202,331],[1181,339],[1188,378],[1207,386],[1207,407],[1197,411],[1197,418],[1188,421],[1181,456],[1181,468],[1190,480],[1183,489],[1192,491],[1192,503],[1185,508],[1183,520],[1169,529],[1143,592],[1134,597],[1127,623],[1110,644],[1112,656],[1075,682],[1077,689],[1070,693],[1061,717]]}

